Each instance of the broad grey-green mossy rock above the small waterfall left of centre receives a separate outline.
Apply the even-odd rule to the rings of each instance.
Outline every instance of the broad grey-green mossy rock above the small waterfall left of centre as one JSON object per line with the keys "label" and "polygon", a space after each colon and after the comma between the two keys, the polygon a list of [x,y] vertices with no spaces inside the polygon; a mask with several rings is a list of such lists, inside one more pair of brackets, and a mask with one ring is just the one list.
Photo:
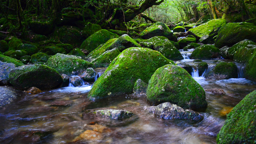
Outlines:
{"label": "broad grey-green mossy rock above the small waterfall left of centre", "polygon": [[87,62],[82,58],[72,55],[64,55],[61,53],[57,53],[56,55],[50,57],[46,62],[46,65],[54,68],[61,74],[64,73],[70,76],[77,75],[89,67],[95,67],[93,63]]}

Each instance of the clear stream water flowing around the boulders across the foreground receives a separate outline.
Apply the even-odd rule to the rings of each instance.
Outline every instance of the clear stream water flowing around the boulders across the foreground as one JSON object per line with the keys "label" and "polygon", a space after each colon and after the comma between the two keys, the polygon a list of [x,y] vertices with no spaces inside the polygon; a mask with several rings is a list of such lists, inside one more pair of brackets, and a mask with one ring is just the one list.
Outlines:
{"label": "clear stream water flowing around the boulders across the foreground", "polygon": [[[80,87],[70,85],[39,94],[24,93],[15,102],[0,108],[0,143],[215,144],[227,111],[254,91],[256,84],[243,78],[244,66],[239,67],[239,78],[219,81],[204,78],[214,68],[215,60],[205,61],[209,68],[199,77],[196,67],[199,62],[193,62],[188,56],[192,51],[181,52],[185,55],[181,61],[193,66],[193,78],[204,89],[220,88],[225,92],[223,95],[206,92],[208,108],[200,112],[204,119],[199,123],[155,117],[143,109],[150,106],[145,94],[89,101],[87,93],[92,85],[83,83]],[[97,70],[97,78],[104,70]],[[127,122],[84,115],[87,109],[96,108],[124,109],[133,112],[136,118]],[[79,137],[84,132],[88,132],[83,137],[86,139]]]}

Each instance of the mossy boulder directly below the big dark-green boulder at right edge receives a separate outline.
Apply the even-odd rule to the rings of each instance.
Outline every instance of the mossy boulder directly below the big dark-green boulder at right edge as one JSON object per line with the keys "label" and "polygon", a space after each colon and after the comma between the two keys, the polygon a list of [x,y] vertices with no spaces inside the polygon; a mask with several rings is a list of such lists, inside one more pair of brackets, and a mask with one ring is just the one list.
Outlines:
{"label": "mossy boulder directly below the big dark-green boulder at right edge", "polygon": [[[233,59],[234,56],[235,56],[235,54],[238,52],[238,50],[239,50],[239,49],[242,49],[242,48],[245,48],[247,45],[256,45],[256,43],[253,42],[253,41],[247,40],[247,39],[242,40],[242,41],[236,43],[235,45],[233,45],[232,47],[230,47],[230,48],[228,49],[228,57],[229,57],[230,59]],[[244,51],[244,50],[242,50],[242,51]],[[241,51],[240,51],[240,52],[241,52]],[[239,52],[239,53],[240,53],[240,52]],[[241,55],[241,53],[240,53],[240,54],[237,54],[237,56],[239,56],[239,55]],[[237,60],[237,62],[239,62],[239,60]]]}

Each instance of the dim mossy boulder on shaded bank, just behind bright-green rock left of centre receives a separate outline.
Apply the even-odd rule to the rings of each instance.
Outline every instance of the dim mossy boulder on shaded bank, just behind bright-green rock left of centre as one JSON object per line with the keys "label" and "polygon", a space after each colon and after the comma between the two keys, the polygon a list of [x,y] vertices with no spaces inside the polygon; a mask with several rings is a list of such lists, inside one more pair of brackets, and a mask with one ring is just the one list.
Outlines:
{"label": "dim mossy boulder on shaded bank, just behind bright-green rock left of centre", "polygon": [[87,25],[83,28],[82,36],[88,38],[90,35],[94,34],[95,32],[101,30],[100,25],[92,24],[88,22]]}

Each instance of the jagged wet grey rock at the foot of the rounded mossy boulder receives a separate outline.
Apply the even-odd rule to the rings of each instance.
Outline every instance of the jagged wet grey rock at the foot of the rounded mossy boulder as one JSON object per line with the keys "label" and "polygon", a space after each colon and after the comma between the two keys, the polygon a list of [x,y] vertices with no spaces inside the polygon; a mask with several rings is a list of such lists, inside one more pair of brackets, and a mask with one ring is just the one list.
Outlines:
{"label": "jagged wet grey rock at the foot of the rounded mossy boulder", "polygon": [[203,115],[193,110],[183,109],[169,102],[159,104],[158,106],[145,107],[144,109],[163,119],[182,119],[192,120],[193,122],[200,122],[204,119]]}

